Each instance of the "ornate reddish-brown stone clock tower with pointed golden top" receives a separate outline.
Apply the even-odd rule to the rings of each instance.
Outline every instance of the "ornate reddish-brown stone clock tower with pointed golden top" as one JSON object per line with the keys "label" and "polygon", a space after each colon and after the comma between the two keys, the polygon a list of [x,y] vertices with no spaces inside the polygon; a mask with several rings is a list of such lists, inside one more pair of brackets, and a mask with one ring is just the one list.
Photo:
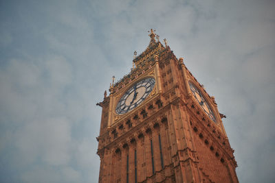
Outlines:
{"label": "ornate reddish-brown stone clock tower with pointed golden top", "polygon": [[97,103],[98,182],[239,182],[214,97],[165,39],[149,36],[131,72]]}

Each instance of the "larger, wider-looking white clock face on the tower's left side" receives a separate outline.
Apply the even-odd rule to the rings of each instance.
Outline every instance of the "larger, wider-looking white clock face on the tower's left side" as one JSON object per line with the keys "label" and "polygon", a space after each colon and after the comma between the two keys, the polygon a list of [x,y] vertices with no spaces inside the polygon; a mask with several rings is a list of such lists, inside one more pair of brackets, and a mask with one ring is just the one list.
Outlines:
{"label": "larger, wider-looking white clock face on the tower's left side", "polygon": [[148,95],[152,92],[155,86],[155,79],[152,77],[146,78],[137,82],[129,88],[118,101],[115,112],[125,114],[136,108]]}

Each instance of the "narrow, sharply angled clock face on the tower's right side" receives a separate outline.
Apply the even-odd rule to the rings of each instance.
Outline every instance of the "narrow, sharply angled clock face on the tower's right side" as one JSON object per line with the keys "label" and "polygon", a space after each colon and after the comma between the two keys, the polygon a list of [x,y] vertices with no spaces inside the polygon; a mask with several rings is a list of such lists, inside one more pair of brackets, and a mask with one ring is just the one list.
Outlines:
{"label": "narrow, sharply angled clock face on the tower's right side", "polygon": [[190,82],[189,82],[189,86],[190,86],[192,95],[199,102],[199,105],[201,106],[201,108],[204,110],[204,112],[206,112],[206,114],[208,114],[208,117],[210,117],[210,119],[212,119],[212,121],[214,121],[216,123],[216,118],[214,117],[214,112],[210,108],[210,105],[208,104],[206,99],[204,99],[203,95],[201,94],[201,91]]}

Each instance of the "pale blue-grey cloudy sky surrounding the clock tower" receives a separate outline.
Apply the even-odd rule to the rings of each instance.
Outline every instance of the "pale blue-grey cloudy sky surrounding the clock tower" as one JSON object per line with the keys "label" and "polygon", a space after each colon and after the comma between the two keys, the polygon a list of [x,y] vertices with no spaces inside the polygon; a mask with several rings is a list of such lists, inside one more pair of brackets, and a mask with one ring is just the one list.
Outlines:
{"label": "pale blue-grey cloudy sky surrounding the clock tower", "polygon": [[0,1],[0,182],[98,182],[104,90],[148,30],[214,95],[240,182],[275,180],[275,1]]}

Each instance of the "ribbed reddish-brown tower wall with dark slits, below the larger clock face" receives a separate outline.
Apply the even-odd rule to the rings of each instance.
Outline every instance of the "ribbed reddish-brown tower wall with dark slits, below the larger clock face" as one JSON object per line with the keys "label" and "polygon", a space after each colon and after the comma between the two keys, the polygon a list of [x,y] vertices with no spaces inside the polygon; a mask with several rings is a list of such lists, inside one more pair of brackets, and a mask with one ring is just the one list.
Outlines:
{"label": "ribbed reddish-brown tower wall with dark slits, below the larger clock face", "polygon": [[[133,134],[130,139],[135,139],[135,141],[128,142],[126,147],[120,146],[119,150],[118,147],[105,149],[104,158],[100,162],[99,182],[126,182],[127,155],[129,156],[129,182],[135,182],[135,150],[137,154],[137,182],[175,182],[168,123],[167,121],[164,123],[154,123],[153,121],[150,127],[144,128],[144,131]],[[139,136],[140,134],[142,136]],[[159,136],[162,142],[164,169],[162,169],[160,156]],[[155,173],[153,173],[151,141]],[[176,147],[175,142],[173,144]],[[180,168],[177,171],[181,175]]]}

